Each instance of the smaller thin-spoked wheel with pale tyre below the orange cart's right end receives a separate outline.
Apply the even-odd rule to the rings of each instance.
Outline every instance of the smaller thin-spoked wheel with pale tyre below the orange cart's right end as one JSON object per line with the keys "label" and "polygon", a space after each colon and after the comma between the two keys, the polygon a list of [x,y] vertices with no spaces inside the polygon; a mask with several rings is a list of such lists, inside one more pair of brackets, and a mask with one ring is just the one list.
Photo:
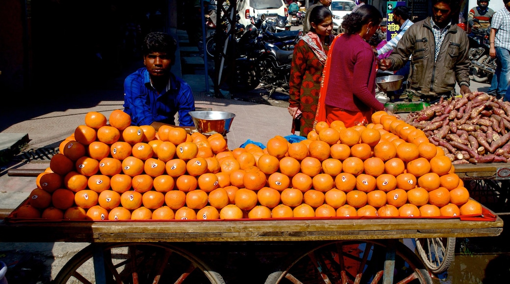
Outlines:
{"label": "smaller thin-spoked wheel with pale tyre below the orange cart's right end", "polygon": [[415,239],[425,266],[435,274],[448,270],[455,254],[455,238]]}

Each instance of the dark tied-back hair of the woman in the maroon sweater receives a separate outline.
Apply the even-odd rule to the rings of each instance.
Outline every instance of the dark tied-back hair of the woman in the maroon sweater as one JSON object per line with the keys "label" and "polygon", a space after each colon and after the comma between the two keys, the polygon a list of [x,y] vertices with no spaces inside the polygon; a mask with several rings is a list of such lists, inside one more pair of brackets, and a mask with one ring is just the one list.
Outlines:
{"label": "dark tied-back hair of the woman in the maroon sweater", "polygon": [[374,25],[380,24],[382,15],[372,5],[362,5],[355,12],[352,12],[344,17],[342,28],[346,34],[353,35],[361,31],[364,24],[373,22]]}

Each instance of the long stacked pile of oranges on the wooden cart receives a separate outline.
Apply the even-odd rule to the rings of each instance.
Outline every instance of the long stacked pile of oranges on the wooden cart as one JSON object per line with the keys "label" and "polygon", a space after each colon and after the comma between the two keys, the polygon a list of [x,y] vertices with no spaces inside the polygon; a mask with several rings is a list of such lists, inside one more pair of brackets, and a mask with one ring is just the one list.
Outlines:
{"label": "long stacked pile of oranges on the wooden cart", "polygon": [[240,219],[481,214],[423,131],[377,111],[367,126],[317,124],[227,149],[220,134],[132,126],[89,112],[60,145],[18,218]]}

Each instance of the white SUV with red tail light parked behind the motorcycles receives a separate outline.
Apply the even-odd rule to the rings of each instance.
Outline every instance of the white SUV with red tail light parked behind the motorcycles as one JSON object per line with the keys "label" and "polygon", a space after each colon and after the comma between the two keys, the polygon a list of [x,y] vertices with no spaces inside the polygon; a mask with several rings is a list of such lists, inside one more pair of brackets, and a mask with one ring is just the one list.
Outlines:
{"label": "white SUV with red tail light parked behind the motorcycles", "polygon": [[284,0],[239,0],[237,11],[241,16],[239,22],[244,26],[251,23],[250,17],[260,18],[262,14],[266,14],[266,19],[274,22],[278,15],[286,17],[290,27],[289,11]]}

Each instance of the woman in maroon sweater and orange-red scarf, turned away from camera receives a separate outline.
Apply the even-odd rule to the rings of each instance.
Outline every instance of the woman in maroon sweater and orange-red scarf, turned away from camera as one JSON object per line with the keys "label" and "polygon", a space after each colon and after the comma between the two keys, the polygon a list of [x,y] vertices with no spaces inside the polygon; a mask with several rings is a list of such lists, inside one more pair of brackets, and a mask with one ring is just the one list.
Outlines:
{"label": "woman in maroon sweater and orange-red scarf, turned away from camera", "polygon": [[[345,33],[329,50],[325,82],[326,122],[344,122],[346,127],[367,125],[373,111],[385,110],[375,98],[375,55],[366,41],[382,20],[372,5],[363,5],[342,22]],[[321,91],[322,95],[322,91]]]}

